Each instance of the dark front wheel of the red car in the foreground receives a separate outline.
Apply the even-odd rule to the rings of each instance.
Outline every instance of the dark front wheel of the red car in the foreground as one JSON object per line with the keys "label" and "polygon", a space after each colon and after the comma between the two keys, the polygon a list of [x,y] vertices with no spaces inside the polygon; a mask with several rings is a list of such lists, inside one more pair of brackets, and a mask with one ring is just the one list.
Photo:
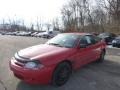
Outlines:
{"label": "dark front wheel of the red car in the foreground", "polygon": [[64,85],[69,80],[71,72],[72,72],[72,68],[69,63],[63,62],[59,64],[54,71],[52,78],[52,85],[53,86]]}

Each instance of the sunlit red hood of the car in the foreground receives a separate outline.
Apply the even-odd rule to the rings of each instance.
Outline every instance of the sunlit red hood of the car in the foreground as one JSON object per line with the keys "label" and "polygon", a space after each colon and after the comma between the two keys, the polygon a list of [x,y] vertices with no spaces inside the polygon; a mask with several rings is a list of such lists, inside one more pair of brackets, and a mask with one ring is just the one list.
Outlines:
{"label": "sunlit red hood of the car in the foreground", "polygon": [[32,46],[32,47],[20,50],[18,52],[18,55],[20,57],[34,59],[38,56],[42,57],[47,55],[53,55],[53,54],[65,52],[68,50],[69,48],[65,48],[65,47],[57,47],[57,46],[48,45],[48,44],[41,44],[41,45],[36,45],[36,46]]}

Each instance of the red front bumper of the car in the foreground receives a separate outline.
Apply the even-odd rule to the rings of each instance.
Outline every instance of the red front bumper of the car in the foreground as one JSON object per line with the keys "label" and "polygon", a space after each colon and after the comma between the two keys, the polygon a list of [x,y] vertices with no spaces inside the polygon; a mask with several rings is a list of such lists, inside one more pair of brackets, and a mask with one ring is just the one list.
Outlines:
{"label": "red front bumper of the car in the foreground", "polygon": [[9,65],[13,71],[14,76],[28,84],[48,84],[52,78],[52,68],[41,68],[38,70],[25,69],[16,64],[16,60],[11,59]]}

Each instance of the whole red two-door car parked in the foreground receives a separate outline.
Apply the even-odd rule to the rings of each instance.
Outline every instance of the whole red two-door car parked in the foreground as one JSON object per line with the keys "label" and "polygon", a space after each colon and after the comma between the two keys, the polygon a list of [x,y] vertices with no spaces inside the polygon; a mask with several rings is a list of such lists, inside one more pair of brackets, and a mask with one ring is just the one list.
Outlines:
{"label": "whole red two-door car parked in the foreground", "polygon": [[10,61],[14,75],[29,84],[65,84],[72,72],[90,62],[102,62],[106,44],[87,33],[64,33],[45,44],[20,50]]}

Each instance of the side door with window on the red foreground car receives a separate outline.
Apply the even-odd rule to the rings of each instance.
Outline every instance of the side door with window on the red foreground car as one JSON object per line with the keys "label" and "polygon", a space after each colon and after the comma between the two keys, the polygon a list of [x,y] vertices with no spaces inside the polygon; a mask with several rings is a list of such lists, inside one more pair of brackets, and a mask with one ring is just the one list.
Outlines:
{"label": "side door with window on the red foreground car", "polygon": [[[93,56],[93,50],[91,43],[92,42],[89,36],[84,36],[83,38],[81,38],[79,42],[80,48],[78,49],[76,54],[78,68],[89,63],[92,60],[91,57]],[[83,45],[85,45],[85,47],[81,47]]]}

